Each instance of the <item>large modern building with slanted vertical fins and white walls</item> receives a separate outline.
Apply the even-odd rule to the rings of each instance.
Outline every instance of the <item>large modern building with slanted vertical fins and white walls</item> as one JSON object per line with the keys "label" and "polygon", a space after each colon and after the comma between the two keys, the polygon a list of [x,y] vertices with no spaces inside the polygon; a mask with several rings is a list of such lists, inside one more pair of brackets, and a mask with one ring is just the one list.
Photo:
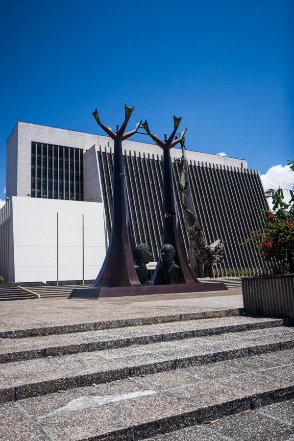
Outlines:
{"label": "large modern building with slanted vertical fins and white walls", "polygon": [[[6,203],[0,210],[0,275],[6,282],[95,279],[112,226],[113,141],[107,136],[17,122],[7,140]],[[147,243],[157,260],[162,233],[162,150],[123,142],[134,245]],[[171,151],[177,192],[181,149]],[[228,270],[263,271],[249,230],[268,210],[259,172],[236,159],[187,150],[196,214],[207,242],[224,242]],[[188,256],[183,212],[179,224]],[[115,271],[115,268],[113,269]],[[196,274],[203,276],[203,274]]]}

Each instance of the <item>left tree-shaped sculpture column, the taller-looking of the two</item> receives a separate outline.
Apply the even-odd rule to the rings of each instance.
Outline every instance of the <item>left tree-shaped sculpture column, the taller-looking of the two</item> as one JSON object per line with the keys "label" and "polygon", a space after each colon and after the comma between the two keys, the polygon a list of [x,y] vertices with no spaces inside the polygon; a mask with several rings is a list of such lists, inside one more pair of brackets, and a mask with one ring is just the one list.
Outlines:
{"label": "left tree-shaped sculpture column, the taller-looking of the two", "polygon": [[93,115],[99,126],[114,140],[114,171],[113,171],[113,225],[110,242],[102,268],[91,288],[96,287],[127,287],[140,286],[140,282],[134,267],[134,246],[129,232],[129,212],[126,198],[125,176],[123,167],[122,141],[137,132],[140,123],[135,130],[124,133],[134,107],[125,105],[124,122],[117,131],[100,122],[97,109]]}

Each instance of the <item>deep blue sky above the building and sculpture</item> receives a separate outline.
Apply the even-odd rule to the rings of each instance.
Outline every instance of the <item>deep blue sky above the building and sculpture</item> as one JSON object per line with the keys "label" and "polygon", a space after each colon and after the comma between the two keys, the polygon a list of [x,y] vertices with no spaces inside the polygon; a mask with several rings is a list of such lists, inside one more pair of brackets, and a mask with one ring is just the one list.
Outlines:
{"label": "deep blue sky above the building and sculpture", "polygon": [[101,133],[91,112],[115,125],[125,102],[159,135],[182,116],[189,149],[284,166],[293,22],[291,0],[1,0],[0,199],[17,120]]}

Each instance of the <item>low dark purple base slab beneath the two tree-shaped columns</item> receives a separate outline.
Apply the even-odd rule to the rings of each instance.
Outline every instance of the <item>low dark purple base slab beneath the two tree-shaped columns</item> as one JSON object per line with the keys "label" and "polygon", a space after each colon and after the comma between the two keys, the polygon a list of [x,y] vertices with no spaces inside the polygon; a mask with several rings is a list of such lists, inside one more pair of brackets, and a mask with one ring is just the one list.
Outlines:
{"label": "low dark purple base slab beneath the two tree-shaped columns", "polygon": [[126,286],[118,288],[78,288],[72,291],[69,298],[124,297],[128,295],[200,293],[207,291],[225,291],[224,283],[192,283],[181,285],[148,285]]}

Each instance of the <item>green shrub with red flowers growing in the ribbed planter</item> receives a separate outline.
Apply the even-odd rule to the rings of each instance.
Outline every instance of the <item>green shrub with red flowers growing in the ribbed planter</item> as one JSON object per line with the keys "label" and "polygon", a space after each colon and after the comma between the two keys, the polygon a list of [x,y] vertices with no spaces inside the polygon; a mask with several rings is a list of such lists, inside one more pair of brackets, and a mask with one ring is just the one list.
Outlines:
{"label": "green shrub with red flowers growing in the ribbed planter", "polygon": [[[294,171],[294,161],[288,162]],[[282,189],[270,189],[267,197],[272,197],[273,211],[264,212],[265,228],[263,231],[249,231],[245,244],[253,243],[271,266],[278,266],[280,272],[294,273],[294,192],[291,199],[284,201]]]}

